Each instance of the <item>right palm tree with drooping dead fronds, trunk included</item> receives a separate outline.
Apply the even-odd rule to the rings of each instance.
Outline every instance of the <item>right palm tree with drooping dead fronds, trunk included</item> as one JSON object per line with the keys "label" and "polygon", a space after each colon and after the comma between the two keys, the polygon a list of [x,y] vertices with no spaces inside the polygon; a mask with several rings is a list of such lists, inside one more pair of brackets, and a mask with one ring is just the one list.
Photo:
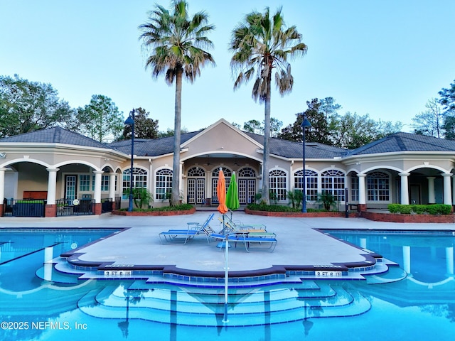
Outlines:
{"label": "right palm tree with drooping dead fronds, trunk included", "polygon": [[269,136],[270,136],[270,95],[272,70],[275,68],[275,82],[282,96],[291,92],[294,77],[288,57],[294,58],[306,53],[307,47],[301,42],[301,34],[295,26],[286,28],[282,8],[271,17],[269,8],[264,13],[254,11],[232,31],[230,50],[234,55],[230,61],[232,72],[238,73],[234,89],[256,77],[252,97],[264,103],[264,160],[262,163],[262,199],[269,203]]}

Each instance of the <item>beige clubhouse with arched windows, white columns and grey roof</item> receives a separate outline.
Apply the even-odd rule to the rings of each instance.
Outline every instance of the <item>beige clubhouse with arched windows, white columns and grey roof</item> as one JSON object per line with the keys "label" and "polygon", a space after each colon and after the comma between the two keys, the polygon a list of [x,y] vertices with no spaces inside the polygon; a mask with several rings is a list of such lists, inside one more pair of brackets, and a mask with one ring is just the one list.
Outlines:
{"label": "beige clubhouse with arched windows, white columns and grey roof", "polygon": [[[128,206],[131,177],[134,188],[153,195],[154,207],[168,205],[173,176],[183,202],[216,205],[220,168],[227,185],[235,172],[240,205],[255,201],[263,176],[278,204],[288,205],[288,191],[303,188],[301,143],[270,139],[264,175],[263,136],[225,119],[181,135],[177,175],[172,136],[135,139],[132,169],[131,143],[102,144],[59,127],[0,139],[0,215],[30,216],[30,207],[37,217],[100,215]],[[305,150],[307,207],[319,207],[322,192],[333,194],[339,210],[348,202],[360,211],[390,203],[452,205],[455,197],[455,141],[396,133],[355,150],[319,143]]]}

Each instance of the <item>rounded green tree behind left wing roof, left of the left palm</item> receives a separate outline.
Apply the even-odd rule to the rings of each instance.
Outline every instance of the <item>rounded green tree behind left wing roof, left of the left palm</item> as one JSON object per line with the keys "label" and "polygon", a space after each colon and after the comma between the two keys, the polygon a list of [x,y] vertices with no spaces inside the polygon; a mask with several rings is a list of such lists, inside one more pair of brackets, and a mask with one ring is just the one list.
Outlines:
{"label": "rounded green tree behind left wing roof, left of the left palm", "polygon": [[77,108],[71,130],[100,142],[112,141],[122,134],[123,121],[123,113],[119,112],[112,99],[94,94],[89,104]]}

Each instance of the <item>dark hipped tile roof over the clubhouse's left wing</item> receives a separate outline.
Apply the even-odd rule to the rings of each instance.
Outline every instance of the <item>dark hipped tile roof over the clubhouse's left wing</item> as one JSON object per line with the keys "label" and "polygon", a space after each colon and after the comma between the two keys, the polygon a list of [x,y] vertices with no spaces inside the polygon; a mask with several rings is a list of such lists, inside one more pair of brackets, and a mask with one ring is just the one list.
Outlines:
{"label": "dark hipped tile roof over the clubhouse's left wing", "polygon": [[0,139],[0,143],[15,142],[15,143],[36,143],[36,144],[72,144],[75,146],[87,146],[93,148],[110,148],[106,144],[90,139],[87,136],[73,133],[60,126],[53,128],[31,131],[29,133],[19,134],[15,136],[5,137]]}

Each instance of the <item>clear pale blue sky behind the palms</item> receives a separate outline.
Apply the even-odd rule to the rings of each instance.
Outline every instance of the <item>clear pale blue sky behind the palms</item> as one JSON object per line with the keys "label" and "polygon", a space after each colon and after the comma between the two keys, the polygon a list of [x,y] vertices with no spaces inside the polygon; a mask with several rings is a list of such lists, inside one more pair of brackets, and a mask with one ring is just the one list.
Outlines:
{"label": "clear pale blue sky behind the palms", "polygon": [[[173,129],[175,84],[146,70],[138,26],[156,4],[146,0],[0,0],[0,75],[50,83],[71,107],[92,95],[110,97],[124,117],[137,107]],[[181,126],[197,131],[219,119],[263,121],[253,82],[233,90],[228,50],[232,30],[251,11],[282,6],[308,46],[291,60],[294,87],[272,92],[271,116],[294,123],[313,98],[333,97],[346,112],[404,124],[455,80],[453,0],[188,0],[189,13],[209,15],[216,66],[183,82]],[[274,85],[272,85],[274,89]]]}

